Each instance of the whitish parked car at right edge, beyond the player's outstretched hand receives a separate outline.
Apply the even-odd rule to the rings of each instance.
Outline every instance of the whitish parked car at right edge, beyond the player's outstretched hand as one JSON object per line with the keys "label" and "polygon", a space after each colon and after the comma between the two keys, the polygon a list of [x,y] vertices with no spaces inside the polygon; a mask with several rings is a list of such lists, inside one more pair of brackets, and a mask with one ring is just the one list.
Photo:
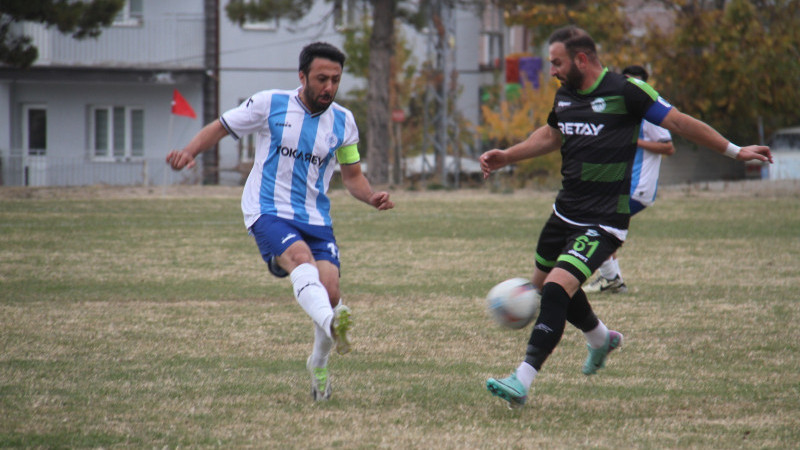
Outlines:
{"label": "whitish parked car at right edge, beyond the player's outstretched hand", "polygon": [[772,151],[772,164],[748,162],[748,178],[769,180],[800,179],[800,126],[782,128],[767,142]]}

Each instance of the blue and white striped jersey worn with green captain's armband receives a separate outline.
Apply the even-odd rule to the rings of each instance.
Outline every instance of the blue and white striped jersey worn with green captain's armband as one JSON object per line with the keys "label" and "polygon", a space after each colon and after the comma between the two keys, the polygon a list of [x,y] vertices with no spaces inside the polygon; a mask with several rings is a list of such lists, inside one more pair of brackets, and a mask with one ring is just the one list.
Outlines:
{"label": "blue and white striped jersey worn with green captain's armband", "polygon": [[256,137],[242,192],[248,229],[262,214],[330,226],[326,193],[336,164],[359,161],[353,114],[335,102],[312,114],[299,94],[300,88],[261,91],[220,117],[234,139]]}

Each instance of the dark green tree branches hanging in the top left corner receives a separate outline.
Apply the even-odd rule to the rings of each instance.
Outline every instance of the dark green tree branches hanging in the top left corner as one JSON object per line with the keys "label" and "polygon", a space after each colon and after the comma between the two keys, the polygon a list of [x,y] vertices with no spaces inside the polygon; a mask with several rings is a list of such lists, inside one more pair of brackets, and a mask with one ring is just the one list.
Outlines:
{"label": "dark green tree branches hanging in the top left corner", "polygon": [[19,22],[56,27],[75,39],[96,38],[111,25],[125,0],[3,0],[0,2],[0,63],[27,68],[39,57],[30,36],[15,33]]}

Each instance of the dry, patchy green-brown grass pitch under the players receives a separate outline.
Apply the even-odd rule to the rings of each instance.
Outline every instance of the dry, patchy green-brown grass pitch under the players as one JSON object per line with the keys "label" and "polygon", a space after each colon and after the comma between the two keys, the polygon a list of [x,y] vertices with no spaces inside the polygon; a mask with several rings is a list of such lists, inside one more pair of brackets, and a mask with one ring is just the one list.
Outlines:
{"label": "dry, patchy green-brown grass pitch under the players", "polygon": [[[553,192],[332,195],[354,350],[314,404],[313,331],[239,190],[0,190],[0,447],[798,448],[798,194],[664,192],[634,219],[626,336],[597,376],[568,327],[510,411],[485,389],[529,329],[484,295],[528,276]],[[22,198],[30,197],[30,198]]]}

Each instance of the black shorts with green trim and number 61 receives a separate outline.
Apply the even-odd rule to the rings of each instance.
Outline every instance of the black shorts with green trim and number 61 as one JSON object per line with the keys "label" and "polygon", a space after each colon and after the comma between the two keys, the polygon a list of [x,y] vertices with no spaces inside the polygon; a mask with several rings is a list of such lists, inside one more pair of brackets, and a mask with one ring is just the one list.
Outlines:
{"label": "black shorts with green trim and number 61", "polygon": [[554,213],[539,235],[536,267],[545,272],[559,267],[583,283],[621,245],[616,236],[598,226],[572,225]]}

